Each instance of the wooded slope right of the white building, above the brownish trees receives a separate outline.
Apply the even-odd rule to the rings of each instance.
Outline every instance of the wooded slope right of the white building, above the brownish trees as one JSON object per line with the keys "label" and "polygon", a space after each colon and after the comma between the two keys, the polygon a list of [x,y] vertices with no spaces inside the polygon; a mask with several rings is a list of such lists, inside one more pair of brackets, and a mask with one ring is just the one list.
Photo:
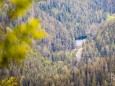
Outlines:
{"label": "wooded slope right of the white building, above the brownish trees", "polygon": [[99,26],[95,36],[89,37],[84,44],[83,58],[115,56],[115,20],[106,21]]}

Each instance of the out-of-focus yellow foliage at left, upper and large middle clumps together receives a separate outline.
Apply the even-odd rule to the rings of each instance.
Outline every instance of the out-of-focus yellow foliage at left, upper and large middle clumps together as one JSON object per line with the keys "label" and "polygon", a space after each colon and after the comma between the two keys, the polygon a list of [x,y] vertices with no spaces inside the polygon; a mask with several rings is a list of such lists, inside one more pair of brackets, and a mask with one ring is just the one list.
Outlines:
{"label": "out-of-focus yellow foliage at left, upper and large middle clumps together", "polygon": [[[15,17],[21,17],[32,3],[32,0],[10,1],[14,8],[9,11],[8,16],[12,20],[15,20]],[[0,66],[6,66],[11,61],[20,63],[29,53],[29,50],[32,50],[30,48],[32,41],[42,39],[46,36],[46,32],[42,29],[40,21],[35,18],[31,18],[28,22],[13,28],[10,28],[10,26],[6,26],[5,28],[5,34],[2,35],[2,31],[0,32],[0,38],[2,38],[0,39]]]}

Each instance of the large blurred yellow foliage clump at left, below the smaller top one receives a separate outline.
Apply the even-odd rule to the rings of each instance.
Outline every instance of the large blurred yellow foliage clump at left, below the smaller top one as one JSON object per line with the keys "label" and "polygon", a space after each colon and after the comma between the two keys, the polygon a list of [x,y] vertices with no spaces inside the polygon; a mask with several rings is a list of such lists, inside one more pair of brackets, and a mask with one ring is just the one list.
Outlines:
{"label": "large blurred yellow foliage clump at left, below the smaller top one", "polygon": [[44,30],[37,28],[40,27],[38,25],[40,23],[32,19],[31,23],[22,24],[5,34],[5,39],[0,42],[0,64],[7,64],[10,60],[21,62],[26,57],[32,40],[46,35]]}

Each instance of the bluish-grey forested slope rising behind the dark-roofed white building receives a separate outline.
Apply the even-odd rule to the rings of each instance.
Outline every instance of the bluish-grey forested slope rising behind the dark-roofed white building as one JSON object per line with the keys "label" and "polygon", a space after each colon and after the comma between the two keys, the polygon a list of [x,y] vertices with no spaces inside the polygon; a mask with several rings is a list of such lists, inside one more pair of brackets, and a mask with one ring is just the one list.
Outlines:
{"label": "bluish-grey forested slope rising behind the dark-roofed white building", "polygon": [[[71,50],[75,48],[75,37],[93,34],[92,29],[114,13],[114,0],[45,0],[35,4],[35,17],[42,20],[49,33],[39,42],[41,50]],[[48,53],[44,54],[48,56]]]}

